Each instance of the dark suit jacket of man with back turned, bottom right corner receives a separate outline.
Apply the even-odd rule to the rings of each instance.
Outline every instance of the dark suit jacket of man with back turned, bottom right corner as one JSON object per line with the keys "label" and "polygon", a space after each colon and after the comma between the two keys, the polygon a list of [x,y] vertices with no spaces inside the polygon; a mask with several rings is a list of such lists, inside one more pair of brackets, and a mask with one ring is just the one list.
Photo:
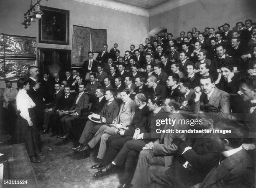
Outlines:
{"label": "dark suit jacket of man with back turned, bottom right corner", "polygon": [[200,183],[199,188],[239,187],[255,185],[255,165],[245,149],[228,156],[216,165]]}

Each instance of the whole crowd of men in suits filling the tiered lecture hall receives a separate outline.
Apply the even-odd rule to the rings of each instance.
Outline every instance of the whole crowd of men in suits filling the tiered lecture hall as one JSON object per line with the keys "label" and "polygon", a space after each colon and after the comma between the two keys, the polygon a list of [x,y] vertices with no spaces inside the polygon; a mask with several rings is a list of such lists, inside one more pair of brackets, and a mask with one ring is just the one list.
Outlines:
{"label": "whole crowd of men in suits filling the tiered lecture hall", "polygon": [[[256,27],[252,20],[236,27],[192,28],[177,40],[156,34],[123,57],[118,44],[109,52],[104,44],[63,80],[58,73],[37,80],[31,67],[41,133],[73,138],[75,159],[98,145],[94,177],[123,166],[122,187],[255,186]],[[202,119],[195,129],[231,133],[167,133],[190,126],[156,126],[166,118]]]}

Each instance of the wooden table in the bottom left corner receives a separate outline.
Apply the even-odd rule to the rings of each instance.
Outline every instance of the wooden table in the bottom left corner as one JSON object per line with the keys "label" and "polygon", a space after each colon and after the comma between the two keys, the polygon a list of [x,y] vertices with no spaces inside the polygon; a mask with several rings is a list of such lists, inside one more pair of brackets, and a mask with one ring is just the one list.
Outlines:
{"label": "wooden table in the bottom left corner", "polygon": [[[3,182],[0,184],[0,187],[1,185],[3,186],[3,188],[37,187],[36,175],[34,173],[24,143],[0,146],[0,153],[5,154],[0,156],[0,163],[3,163],[3,160],[5,162],[7,161],[8,163],[8,169],[4,170],[3,176],[5,182],[7,180],[13,180],[13,182],[15,183],[16,180],[17,183],[17,180],[27,180],[27,184],[4,184],[3,180]],[[8,179],[5,179],[6,177],[8,177]]]}

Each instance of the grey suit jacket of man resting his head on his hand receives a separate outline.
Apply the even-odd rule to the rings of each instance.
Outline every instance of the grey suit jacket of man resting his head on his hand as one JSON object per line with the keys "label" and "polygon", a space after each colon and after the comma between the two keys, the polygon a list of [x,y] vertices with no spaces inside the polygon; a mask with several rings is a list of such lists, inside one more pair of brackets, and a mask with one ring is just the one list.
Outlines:
{"label": "grey suit jacket of man resting his head on his hand", "polygon": [[215,106],[219,110],[218,113],[220,117],[228,118],[230,113],[230,96],[225,91],[215,87],[209,100],[207,100],[207,95],[202,93],[200,100],[195,102],[194,112],[198,113],[200,111],[200,106],[205,104]]}

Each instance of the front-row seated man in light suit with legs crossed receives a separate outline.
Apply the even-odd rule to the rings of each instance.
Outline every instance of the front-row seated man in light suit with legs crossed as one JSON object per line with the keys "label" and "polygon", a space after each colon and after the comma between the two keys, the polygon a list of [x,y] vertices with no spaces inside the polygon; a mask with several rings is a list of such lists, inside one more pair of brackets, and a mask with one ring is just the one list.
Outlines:
{"label": "front-row seated man in light suit with legs crossed", "polygon": [[123,103],[121,104],[118,116],[113,120],[111,125],[102,125],[92,140],[79,150],[80,152],[89,153],[90,150],[100,141],[100,149],[97,158],[102,159],[107,150],[106,142],[108,138],[115,134],[115,131],[119,128],[130,125],[137,107],[133,100],[131,100],[128,90],[123,90],[120,95]]}

